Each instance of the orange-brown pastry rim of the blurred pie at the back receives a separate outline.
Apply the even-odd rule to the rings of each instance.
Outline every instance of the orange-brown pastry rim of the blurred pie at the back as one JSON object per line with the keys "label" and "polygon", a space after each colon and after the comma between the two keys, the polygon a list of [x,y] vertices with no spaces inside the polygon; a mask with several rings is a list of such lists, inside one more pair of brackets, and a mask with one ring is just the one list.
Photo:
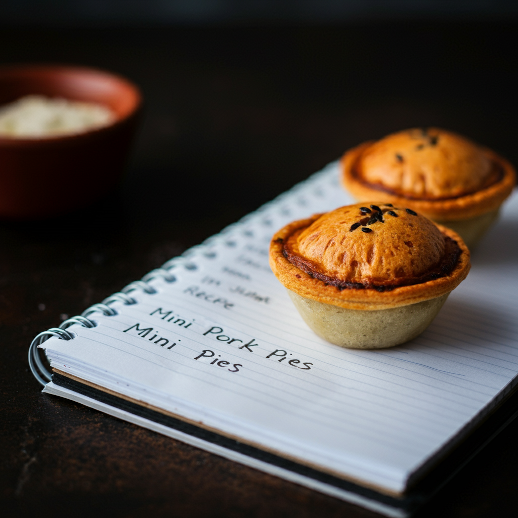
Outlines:
{"label": "orange-brown pastry rim of the blurred pie at the back", "polygon": [[350,149],[340,160],[342,184],[359,201],[383,198],[386,203],[410,207],[433,220],[465,220],[498,209],[516,184],[516,171],[512,164],[491,149],[483,148],[483,152],[503,171],[502,178],[494,184],[471,194],[447,199],[413,199],[398,196],[382,189],[375,189],[353,175],[353,165],[358,156],[372,143],[373,141],[364,142]]}

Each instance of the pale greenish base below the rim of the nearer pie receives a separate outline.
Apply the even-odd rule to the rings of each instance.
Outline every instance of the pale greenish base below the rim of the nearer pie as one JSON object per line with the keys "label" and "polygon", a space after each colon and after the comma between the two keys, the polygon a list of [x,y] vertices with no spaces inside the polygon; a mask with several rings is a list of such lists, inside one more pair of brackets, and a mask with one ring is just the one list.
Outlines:
{"label": "pale greenish base below the rim of the nearer pie", "polygon": [[287,290],[309,327],[321,338],[349,349],[382,349],[420,335],[435,319],[449,293],[408,306],[378,310],[347,309],[301,297]]}

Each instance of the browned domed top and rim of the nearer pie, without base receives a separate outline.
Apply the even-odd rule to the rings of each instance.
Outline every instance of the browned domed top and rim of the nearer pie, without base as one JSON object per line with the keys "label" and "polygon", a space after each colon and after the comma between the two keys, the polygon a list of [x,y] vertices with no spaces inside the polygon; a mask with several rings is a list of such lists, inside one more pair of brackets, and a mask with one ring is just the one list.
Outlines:
{"label": "browned domed top and rim of the nearer pie, without base", "polygon": [[453,231],[411,209],[361,203],[282,228],[270,265],[299,295],[383,309],[449,293],[468,274],[469,251]]}

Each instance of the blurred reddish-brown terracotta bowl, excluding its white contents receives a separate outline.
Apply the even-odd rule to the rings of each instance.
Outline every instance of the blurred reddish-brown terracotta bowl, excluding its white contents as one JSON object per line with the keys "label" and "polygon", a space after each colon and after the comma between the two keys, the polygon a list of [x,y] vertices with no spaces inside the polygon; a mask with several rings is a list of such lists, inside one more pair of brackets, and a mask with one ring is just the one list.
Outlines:
{"label": "blurred reddish-brown terracotta bowl, excluding its white contents", "polygon": [[102,70],[69,66],[0,68],[0,106],[30,94],[104,104],[108,126],[46,138],[0,137],[0,218],[43,218],[80,208],[120,180],[135,134],[138,88]]}

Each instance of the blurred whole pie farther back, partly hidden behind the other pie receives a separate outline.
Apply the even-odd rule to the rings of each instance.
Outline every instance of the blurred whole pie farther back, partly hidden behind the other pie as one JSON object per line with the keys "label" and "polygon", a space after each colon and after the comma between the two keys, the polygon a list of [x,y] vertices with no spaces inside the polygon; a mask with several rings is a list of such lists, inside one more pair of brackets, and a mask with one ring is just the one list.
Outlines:
{"label": "blurred whole pie farther back, partly hidden behind the other pie", "polygon": [[513,166],[490,149],[438,128],[414,128],[344,154],[342,181],[359,201],[410,207],[453,228],[472,246],[497,219],[516,183]]}

